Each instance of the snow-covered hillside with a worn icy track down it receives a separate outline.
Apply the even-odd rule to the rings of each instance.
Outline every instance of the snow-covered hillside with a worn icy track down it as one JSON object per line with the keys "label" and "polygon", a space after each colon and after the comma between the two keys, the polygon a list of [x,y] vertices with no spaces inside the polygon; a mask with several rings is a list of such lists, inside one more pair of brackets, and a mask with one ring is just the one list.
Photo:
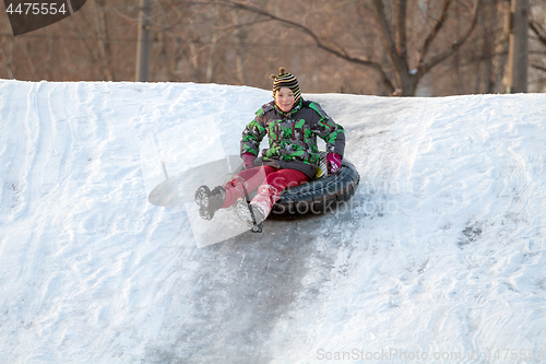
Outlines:
{"label": "snow-covered hillside with a worn icy track down it", "polygon": [[304,97],[353,203],[198,247],[147,196],[271,91],[0,81],[0,362],[546,361],[546,95]]}

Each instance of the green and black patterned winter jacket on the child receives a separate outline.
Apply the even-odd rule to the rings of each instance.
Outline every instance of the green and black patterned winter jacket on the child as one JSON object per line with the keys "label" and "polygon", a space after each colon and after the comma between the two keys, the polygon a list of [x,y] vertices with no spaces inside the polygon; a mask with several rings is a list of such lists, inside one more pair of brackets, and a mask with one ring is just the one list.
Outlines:
{"label": "green and black patterned winter jacket on the child", "polygon": [[263,164],[301,171],[309,178],[316,175],[319,163],[317,137],[324,140],[328,153],[343,156],[345,150],[345,130],[313,102],[300,101],[288,113],[280,110],[274,102],[263,105],[242,132],[241,156],[258,156],[265,134],[270,145],[262,151]]}

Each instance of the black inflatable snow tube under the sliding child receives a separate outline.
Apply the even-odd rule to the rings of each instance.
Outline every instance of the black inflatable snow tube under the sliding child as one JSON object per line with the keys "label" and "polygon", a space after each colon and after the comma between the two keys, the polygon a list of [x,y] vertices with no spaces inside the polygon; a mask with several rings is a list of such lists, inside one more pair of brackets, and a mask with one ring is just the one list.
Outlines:
{"label": "black inflatable snow tube under the sliding child", "polygon": [[[321,152],[320,155],[319,168],[325,171],[327,153]],[[256,158],[254,166],[262,165],[262,157]],[[227,176],[226,181],[235,178],[241,171],[242,164]],[[340,202],[348,201],[355,195],[359,181],[360,176],[355,166],[344,158],[336,174],[324,173],[307,184],[285,189],[273,206],[271,213],[276,215],[318,214],[336,209]],[[250,192],[249,198],[252,199],[256,193],[257,191]]]}

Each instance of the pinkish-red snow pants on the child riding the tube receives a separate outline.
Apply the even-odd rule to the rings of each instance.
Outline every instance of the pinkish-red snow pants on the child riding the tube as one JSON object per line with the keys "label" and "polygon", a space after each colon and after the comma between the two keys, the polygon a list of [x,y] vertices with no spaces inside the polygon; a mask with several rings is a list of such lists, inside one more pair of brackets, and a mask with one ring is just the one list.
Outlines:
{"label": "pinkish-red snow pants on the child riding the tube", "polygon": [[226,200],[222,209],[230,207],[239,197],[245,196],[245,190],[249,193],[258,188],[258,195],[250,203],[259,206],[265,215],[269,215],[285,188],[307,181],[309,177],[296,169],[277,169],[269,165],[245,169],[224,185]]}

